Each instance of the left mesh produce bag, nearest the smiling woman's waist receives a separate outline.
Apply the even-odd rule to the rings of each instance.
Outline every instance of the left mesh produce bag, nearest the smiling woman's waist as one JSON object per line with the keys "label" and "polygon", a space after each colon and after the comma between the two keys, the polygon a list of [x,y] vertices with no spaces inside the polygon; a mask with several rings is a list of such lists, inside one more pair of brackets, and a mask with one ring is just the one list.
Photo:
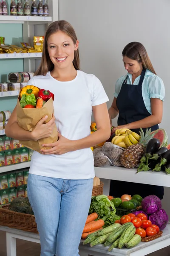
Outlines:
{"label": "left mesh produce bag, nearest the smiling woman's waist", "polygon": [[94,155],[94,166],[96,167],[104,167],[104,166],[111,166],[111,160],[107,156],[104,155],[102,152],[102,148],[96,148],[93,151]]}

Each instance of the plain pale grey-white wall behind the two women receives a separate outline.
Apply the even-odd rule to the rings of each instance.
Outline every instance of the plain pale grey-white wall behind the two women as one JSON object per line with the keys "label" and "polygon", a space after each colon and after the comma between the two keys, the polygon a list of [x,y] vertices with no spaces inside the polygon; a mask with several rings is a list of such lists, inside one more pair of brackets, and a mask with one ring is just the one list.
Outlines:
{"label": "plain pale grey-white wall behind the two women", "polygon": [[[170,137],[170,1],[59,0],[59,19],[74,26],[80,41],[81,69],[102,81],[110,99],[108,108],[116,80],[126,73],[122,49],[131,41],[144,44],[157,75],[164,81],[166,96],[160,128]],[[166,189],[163,200],[170,215],[168,195],[170,189]]]}

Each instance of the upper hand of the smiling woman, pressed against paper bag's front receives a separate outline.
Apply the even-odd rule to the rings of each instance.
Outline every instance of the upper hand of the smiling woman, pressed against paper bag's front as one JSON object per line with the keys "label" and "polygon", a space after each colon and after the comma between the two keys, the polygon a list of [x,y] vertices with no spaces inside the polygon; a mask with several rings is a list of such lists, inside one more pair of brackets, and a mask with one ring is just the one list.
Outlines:
{"label": "upper hand of the smiling woman, pressed against paper bag's front", "polygon": [[48,116],[44,116],[35,126],[34,130],[31,131],[33,140],[37,141],[43,138],[48,138],[51,136],[54,126],[55,117],[53,116],[49,122],[44,124]]}

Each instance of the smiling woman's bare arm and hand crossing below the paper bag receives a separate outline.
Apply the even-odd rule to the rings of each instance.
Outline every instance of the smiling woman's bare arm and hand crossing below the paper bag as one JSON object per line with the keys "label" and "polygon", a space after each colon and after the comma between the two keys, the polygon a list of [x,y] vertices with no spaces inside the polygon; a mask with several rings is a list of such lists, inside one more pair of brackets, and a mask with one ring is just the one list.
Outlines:
{"label": "smiling woman's bare arm and hand crossing below the paper bag", "polygon": [[111,136],[111,127],[106,103],[93,106],[94,119],[96,122],[97,131],[80,140],[68,140],[59,135],[59,140],[51,144],[44,144],[50,149],[42,149],[43,154],[65,154],[70,151],[75,151],[83,148],[90,148]]}

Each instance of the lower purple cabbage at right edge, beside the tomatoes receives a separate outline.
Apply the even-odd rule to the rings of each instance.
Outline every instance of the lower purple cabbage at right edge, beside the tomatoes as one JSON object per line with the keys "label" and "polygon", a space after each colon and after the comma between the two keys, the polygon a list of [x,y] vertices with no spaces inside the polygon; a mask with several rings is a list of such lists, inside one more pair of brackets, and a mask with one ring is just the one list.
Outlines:
{"label": "lower purple cabbage at right edge, beside the tomatoes", "polygon": [[149,219],[152,222],[152,224],[157,225],[160,230],[164,230],[164,228],[167,226],[168,215],[164,209],[160,209],[160,211],[150,215]]}

